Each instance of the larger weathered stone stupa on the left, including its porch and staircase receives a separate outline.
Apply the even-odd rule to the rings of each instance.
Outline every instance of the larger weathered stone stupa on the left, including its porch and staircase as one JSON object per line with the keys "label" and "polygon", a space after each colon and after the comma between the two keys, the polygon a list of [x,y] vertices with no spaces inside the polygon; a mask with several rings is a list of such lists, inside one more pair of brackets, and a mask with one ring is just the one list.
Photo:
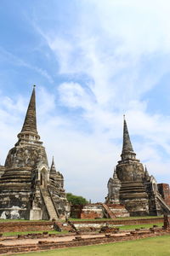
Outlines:
{"label": "larger weathered stone stupa on the left, including its porch and staircase", "polygon": [[64,177],[48,166],[37,132],[35,87],[18,142],[0,166],[0,217],[23,219],[65,218],[69,212]]}

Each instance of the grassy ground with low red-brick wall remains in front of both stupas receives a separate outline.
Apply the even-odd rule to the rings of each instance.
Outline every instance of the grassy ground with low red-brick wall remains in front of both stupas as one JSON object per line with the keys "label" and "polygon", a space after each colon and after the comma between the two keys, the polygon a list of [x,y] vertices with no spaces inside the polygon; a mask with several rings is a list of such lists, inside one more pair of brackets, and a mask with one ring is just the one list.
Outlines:
{"label": "grassy ground with low red-brick wall remains in front of both stupas", "polygon": [[166,216],[66,222],[2,220],[0,230],[1,255],[170,255]]}

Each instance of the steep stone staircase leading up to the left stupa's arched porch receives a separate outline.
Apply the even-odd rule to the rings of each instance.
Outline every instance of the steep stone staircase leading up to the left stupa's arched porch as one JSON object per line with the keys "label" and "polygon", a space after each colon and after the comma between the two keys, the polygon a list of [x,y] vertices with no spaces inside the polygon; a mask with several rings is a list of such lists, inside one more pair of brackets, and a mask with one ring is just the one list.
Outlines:
{"label": "steep stone staircase leading up to the left stupa's arched porch", "polygon": [[51,196],[48,192],[48,189],[41,189],[41,192],[42,192],[43,201],[44,201],[45,206],[48,210],[49,219],[50,220],[52,220],[53,218],[58,219],[59,216],[58,216],[58,213],[55,210],[54,203],[51,199]]}

